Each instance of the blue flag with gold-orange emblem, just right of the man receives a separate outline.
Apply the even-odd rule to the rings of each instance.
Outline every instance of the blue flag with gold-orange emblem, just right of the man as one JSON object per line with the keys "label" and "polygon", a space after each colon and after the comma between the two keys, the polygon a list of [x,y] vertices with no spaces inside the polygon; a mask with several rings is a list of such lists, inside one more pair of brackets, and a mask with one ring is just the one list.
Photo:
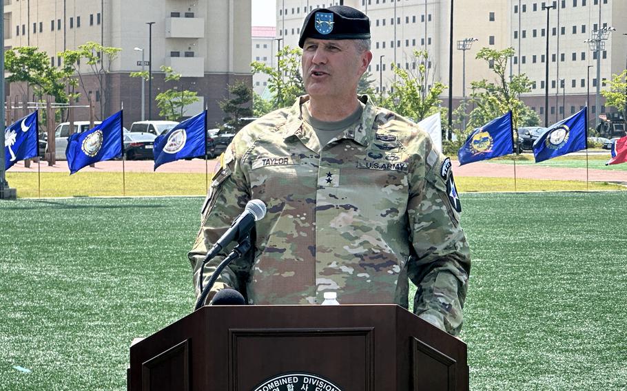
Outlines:
{"label": "blue flag with gold-orange emblem, just right of the man", "polygon": [[514,153],[512,112],[477,127],[458,151],[460,166]]}

